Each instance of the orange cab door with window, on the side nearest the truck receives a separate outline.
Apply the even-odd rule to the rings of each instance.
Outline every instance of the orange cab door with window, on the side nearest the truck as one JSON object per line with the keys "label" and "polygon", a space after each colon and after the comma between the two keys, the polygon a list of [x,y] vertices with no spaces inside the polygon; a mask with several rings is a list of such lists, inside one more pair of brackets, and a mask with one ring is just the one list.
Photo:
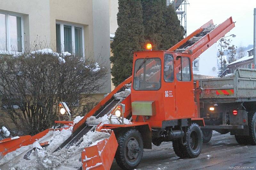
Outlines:
{"label": "orange cab door with window, on the side nearest the truck", "polygon": [[188,56],[175,53],[176,118],[195,117],[194,83],[191,61]]}

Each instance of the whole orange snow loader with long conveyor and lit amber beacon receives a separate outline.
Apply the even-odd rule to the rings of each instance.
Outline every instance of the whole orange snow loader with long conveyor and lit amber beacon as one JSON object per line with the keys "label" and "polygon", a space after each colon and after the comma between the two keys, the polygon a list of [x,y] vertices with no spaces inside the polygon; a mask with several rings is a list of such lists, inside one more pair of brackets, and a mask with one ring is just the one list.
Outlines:
{"label": "whole orange snow loader with long conveyor and lit amber beacon", "polygon": [[[200,127],[205,125],[205,116],[200,117],[202,87],[199,81],[193,80],[192,62],[234,27],[231,17],[218,26],[210,20],[168,50],[152,51],[152,45],[147,44],[145,51],[133,52],[131,77],[79,122],[56,121],[72,127],[72,134],[53,152],[81,143],[85,134],[95,130],[108,132],[110,136],[84,148],[81,152],[84,170],[110,169],[113,159],[122,169],[134,169],[140,163],[143,149],[167,141],[172,141],[173,150],[180,158],[197,157],[202,149]],[[122,101],[116,100],[114,94],[125,91],[127,84],[131,84],[131,94]],[[99,123],[92,128],[86,123],[91,116],[104,115],[108,116],[108,124]],[[131,122],[125,124],[126,119]],[[38,139],[41,146],[47,147],[49,138],[44,135],[55,130],[46,129],[32,137],[4,139],[0,141],[1,157]],[[26,159],[30,153],[30,150],[19,153],[17,159]]]}

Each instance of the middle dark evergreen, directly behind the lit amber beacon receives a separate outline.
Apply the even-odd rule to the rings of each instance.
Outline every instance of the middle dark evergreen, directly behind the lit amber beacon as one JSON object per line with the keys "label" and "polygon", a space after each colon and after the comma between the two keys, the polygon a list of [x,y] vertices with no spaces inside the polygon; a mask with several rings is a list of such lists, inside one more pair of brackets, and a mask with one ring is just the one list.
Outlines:
{"label": "middle dark evergreen, directly behind the lit amber beacon", "polygon": [[142,0],[143,21],[145,27],[144,38],[151,43],[153,50],[158,50],[163,40],[165,27],[164,12],[166,0]]}

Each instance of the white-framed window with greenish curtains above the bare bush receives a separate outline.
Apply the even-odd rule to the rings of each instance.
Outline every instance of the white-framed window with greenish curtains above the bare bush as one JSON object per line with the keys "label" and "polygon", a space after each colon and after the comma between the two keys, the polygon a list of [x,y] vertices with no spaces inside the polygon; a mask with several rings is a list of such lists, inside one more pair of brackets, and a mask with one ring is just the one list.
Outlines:
{"label": "white-framed window with greenish curtains above the bare bush", "polygon": [[84,56],[84,26],[56,22],[56,50]]}

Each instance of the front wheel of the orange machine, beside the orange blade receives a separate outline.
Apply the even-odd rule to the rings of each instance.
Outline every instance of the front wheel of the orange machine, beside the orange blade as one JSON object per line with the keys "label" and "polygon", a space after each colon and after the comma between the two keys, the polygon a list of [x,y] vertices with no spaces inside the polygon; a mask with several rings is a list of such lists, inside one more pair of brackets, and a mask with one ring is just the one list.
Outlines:
{"label": "front wheel of the orange machine, beside the orange blade", "polygon": [[135,169],[143,155],[143,140],[140,132],[136,129],[123,131],[119,134],[117,142],[118,147],[115,155],[117,164],[122,169]]}

